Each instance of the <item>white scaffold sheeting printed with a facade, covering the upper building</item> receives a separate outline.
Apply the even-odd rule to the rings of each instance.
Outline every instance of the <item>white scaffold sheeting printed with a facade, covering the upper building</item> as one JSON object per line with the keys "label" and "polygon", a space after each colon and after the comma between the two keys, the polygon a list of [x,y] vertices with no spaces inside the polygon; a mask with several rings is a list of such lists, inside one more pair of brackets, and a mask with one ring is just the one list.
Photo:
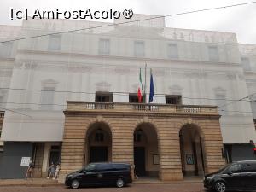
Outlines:
{"label": "white scaffold sheeting printed with a facade, covering the upper building", "polygon": [[[101,25],[106,23],[30,19],[17,37]],[[0,59],[1,90],[9,88],[4,108],[18,112],[5,112],[4,141],[61,142],[67,100],[94,102],[96,91],[107,91],[113,102],[129,102],[129,93],[137,93],[139,68],[144,81],[145,63],[147,95],[153,69],[155,103],[182,95],[183,104],[218,105],[224,143],[256,141],[251,104],[237,101],[256,92],[256,49],[238,44],[234,33],[168,28],[157,19],[27,38],[13,46],[11,61]],[[241,66],[241,55],[250,57],[250,72]],[[4,67],[12,69],[8,78]],[[53,93],[46,96],[49,105],[44,88]]]}

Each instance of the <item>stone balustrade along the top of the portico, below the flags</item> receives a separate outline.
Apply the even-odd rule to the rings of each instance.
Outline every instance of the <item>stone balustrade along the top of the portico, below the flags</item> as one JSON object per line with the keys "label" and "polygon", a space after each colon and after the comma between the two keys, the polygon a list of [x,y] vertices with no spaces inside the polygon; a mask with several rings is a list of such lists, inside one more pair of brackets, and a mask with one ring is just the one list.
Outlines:
{"label": "stone balustrade along the top of the portico, below the flags", "polygon": [[67,110],[109,110],[122,112],[144,113],[210,113],[218,114],[215,106],[198,105],[167,105],[167,104],[144,104],[123,102],[67,102]]}

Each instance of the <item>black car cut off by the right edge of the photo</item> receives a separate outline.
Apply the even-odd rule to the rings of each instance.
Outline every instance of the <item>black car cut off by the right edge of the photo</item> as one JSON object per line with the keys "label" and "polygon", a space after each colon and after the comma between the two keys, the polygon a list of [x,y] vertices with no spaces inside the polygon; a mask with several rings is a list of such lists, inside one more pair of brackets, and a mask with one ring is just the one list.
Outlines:
{"label": "black car cut off by the right edge of the photo", "polygon": [[256,190],[256,160],[244,160],[224,166],[204,177],[204,186],[218,192]]}

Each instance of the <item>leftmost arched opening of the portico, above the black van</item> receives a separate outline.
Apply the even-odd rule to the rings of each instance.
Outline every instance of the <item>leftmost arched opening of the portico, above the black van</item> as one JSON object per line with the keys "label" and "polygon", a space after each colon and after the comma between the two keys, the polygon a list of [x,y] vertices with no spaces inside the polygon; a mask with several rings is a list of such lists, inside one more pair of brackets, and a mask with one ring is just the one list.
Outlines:
{"label": "leftmost arched opening of the portico, above the black van", "polygon": [[84,165],[112,160],[112,134],[103,122],[90,125],[86,134]]}

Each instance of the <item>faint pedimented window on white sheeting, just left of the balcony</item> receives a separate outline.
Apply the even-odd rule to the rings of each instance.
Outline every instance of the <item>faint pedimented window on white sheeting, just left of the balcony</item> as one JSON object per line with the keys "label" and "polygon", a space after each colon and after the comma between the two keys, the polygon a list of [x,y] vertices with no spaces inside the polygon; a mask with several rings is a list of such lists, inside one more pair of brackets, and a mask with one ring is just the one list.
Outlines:
{"label": "faint pedimented window on white sheeting, just left of the balcony", "polygon": [[41,109],[50,110],[53,108],[55,99],[55,87],[43,87],[41,90]]}

